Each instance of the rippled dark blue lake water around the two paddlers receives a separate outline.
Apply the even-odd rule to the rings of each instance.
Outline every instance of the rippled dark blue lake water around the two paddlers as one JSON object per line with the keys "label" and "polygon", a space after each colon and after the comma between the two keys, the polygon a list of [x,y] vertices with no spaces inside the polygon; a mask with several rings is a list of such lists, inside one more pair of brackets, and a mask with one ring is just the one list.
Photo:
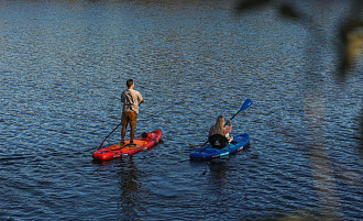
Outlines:
{"label": "rippled dark blue lake water around the two paddlers", "polygon": [[[320,3],[294,23],[229,1],[1,1],[0,220],[362,219],[363,68],[337,78],[350,1]],[[96,163],[129,78],[136,133],[163,143]],[[189,161],[248,98],[250,148]]]}

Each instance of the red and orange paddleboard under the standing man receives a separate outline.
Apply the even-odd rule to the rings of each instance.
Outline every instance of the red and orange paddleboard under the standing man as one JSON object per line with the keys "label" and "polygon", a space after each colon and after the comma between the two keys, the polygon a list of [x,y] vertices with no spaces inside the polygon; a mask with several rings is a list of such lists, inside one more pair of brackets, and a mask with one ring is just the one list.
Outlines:
{"label": "red and orange paddleboard under the standing man", "polygon": [[133,143],[135,146],[131,146],[130,141],[125,141],[124,145],[120,145],[120,143],[113,144],[111,146],[107,146],[96,151],[92,155],[95,159],[112,159],[119,158],[122,156],[132,156],[141,151],[146,151],[150,147],[153,147],[162,140],[162,131],[160,129],[143,133],[138,137],[134,137]]}

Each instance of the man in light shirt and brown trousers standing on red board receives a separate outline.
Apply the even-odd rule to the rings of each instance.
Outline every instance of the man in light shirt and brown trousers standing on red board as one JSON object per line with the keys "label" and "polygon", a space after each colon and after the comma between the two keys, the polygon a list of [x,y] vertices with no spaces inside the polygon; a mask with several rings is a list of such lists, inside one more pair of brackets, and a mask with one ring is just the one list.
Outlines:
{"label": "man in light shirt and brown trousers standing on red board", "polygon": [[123,103],[122,115],[121,115],[121,145],[124,145],[124,135],[127,133],[127,128],[130,122],[130,146],[135,146],[133,143],[133,137],[135,135],[135,128],[139,114],[139,101],[145,102],[141,93],[134,90],[134,82],[132,79],[127,81],[128,90],[121,93],[121,102]]}

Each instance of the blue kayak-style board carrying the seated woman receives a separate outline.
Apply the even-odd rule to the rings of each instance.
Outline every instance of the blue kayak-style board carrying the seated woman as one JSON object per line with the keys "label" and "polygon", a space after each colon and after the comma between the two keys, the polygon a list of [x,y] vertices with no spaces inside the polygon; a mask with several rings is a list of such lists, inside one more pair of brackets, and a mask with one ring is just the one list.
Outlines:
{"label": "blue kayak-style board carrying the seated woman", "polygon": [[237,136],[233,136],[233,141],[221,150],[213,148],[208,143],[207,146],[193,151],[189,156],[190,159],[198,159],[198,161],[220,158],[223,156],[235,154],[237,152],[246,147],[249,144],[250,144],[250,135],[248,133],[242,133]]}

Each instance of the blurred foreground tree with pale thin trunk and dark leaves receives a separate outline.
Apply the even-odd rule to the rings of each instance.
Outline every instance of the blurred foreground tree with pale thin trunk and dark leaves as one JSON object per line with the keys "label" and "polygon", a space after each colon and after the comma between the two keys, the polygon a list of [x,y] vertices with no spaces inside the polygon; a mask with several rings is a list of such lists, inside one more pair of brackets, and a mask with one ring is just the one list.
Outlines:
{"label": "blurred foreground tree with pale thin trunk and dark leaves", "polygon": [[[328,0],[310,0],[305,3],[316,3],[321,5],[321,10],[329,10],[328,5],[339,3],[339,1]],[[351,0],[350,9],[346,12],[348,16],[340,21],[340,25],[336,31],[336,40],[338,47],[336,49],[339,60],[336,66],[337,79],[341,84],[346,84],[345,79],[350,75],[356,73],[355,64],[362,54],[363,45],[363,1]],[[298,22],[309,31],[309,44],[306,45],[307,57],[309,57],[309,66],[305,67],[304,80],[301,84],[306,88],[304,95],[305,122],[306,122],[306,139],[307,153],[311,162],[314,172],[314,184],[318,192],[320,214],[323,220],[340,220],[339,213],[342,208],[340,205],[337,181],[334,177],[333,163],[326,146],[327,141],[327,122],[324,121],[327,98],[321,89],[320,82],[323,81],[322,73],[319,73],[321,67],[321,55],[323,47],[327,47],[326,34],[319,26],[329,25],[329,21],[315,19],[315,14],[308,15],[308,12],[300,10],[296,1],[278,1],[278,0],[240,0],[237,2],[238,14],[244,12],[258,11],[273,5],[282,18]],[[326,7],[327,5],[327,7]],[[326,22],[326,24],[324,24]],[[321,70],[320,70],[321,71]],[[319,82],[320,81],[320,82]],[[349,87],[349,85],[344,85]],[[360,136],[359,146],[361,154],[363,153],[363,110],[361,119],[356,121]],[[360,181],[360,180],[356,180]]]}

